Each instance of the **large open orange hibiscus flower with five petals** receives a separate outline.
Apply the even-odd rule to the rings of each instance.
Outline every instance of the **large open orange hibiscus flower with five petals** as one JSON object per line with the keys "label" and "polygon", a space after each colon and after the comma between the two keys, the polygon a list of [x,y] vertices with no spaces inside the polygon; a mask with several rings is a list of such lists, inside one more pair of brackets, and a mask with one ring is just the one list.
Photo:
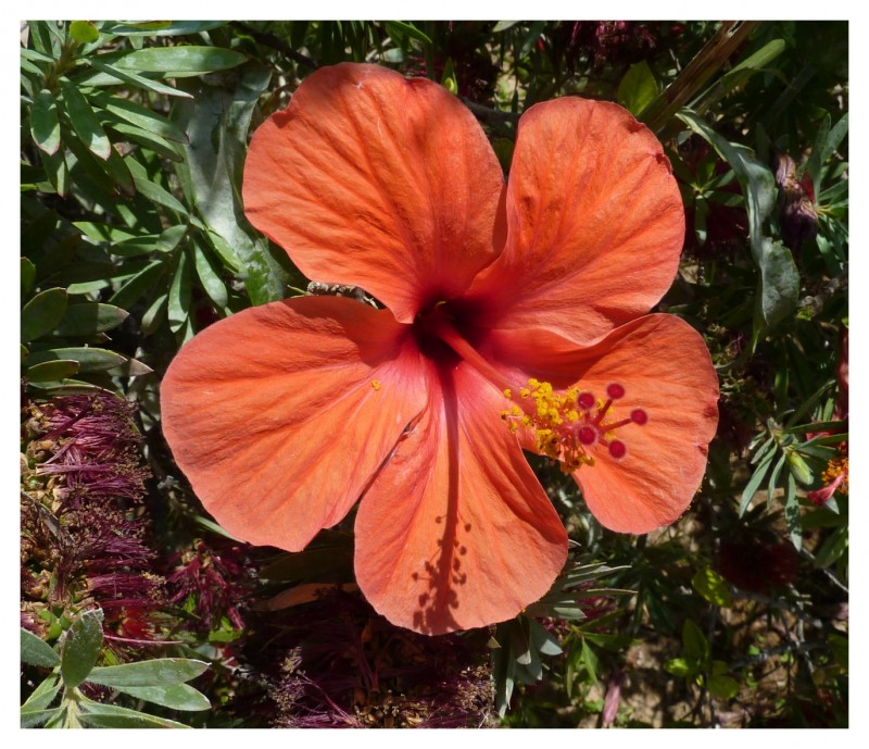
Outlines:
{"label": "large open orange hibiscus flower with five petals", "polygon": [[563,98],[519,123],[508,183],[479,124],[425,79],[317,71],[254,134],[248,217],[322,282],[200,333],[163,428],[238,538],[298,551],[360,498],[355,570],[395,624],[516,615],[567,535],[522,448],[563,461],[606,527],[673,522],[703,476],[718,386],[700,335],[640,316],[684,215],[660,143]]}

